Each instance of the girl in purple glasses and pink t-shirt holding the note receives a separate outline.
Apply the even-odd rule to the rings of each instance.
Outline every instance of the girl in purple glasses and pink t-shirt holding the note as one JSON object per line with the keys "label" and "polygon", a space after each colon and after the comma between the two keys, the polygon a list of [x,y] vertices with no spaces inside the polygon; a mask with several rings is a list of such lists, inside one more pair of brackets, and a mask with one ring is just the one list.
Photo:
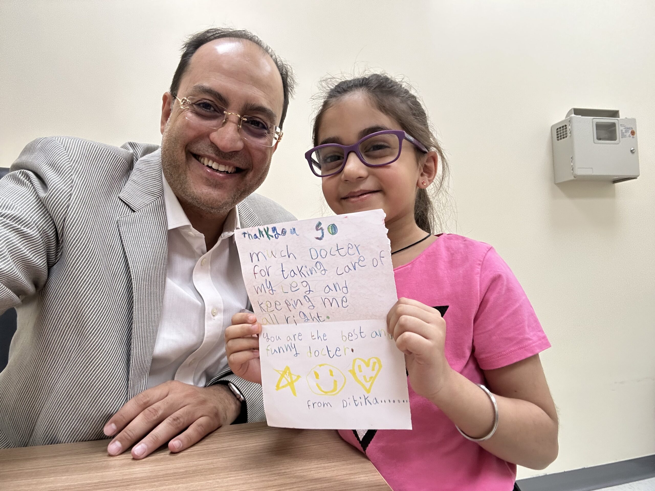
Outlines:
{"label": "girl in purple glasses and pink t-shirt holding the note", "polygon": [[[538,353],[550,346],[490,245],[432,235],[426,192],[446,161],[419,100],[369,75],[333,86],[307,152],[335,213],[382,208],[399,300],[388,330],[405,354],[411,431],[340,430],[394,490],[510,491],[516,464],[557,456],[557,414]],[[225,333],[235,374],[261,382],[252,314]]]}

